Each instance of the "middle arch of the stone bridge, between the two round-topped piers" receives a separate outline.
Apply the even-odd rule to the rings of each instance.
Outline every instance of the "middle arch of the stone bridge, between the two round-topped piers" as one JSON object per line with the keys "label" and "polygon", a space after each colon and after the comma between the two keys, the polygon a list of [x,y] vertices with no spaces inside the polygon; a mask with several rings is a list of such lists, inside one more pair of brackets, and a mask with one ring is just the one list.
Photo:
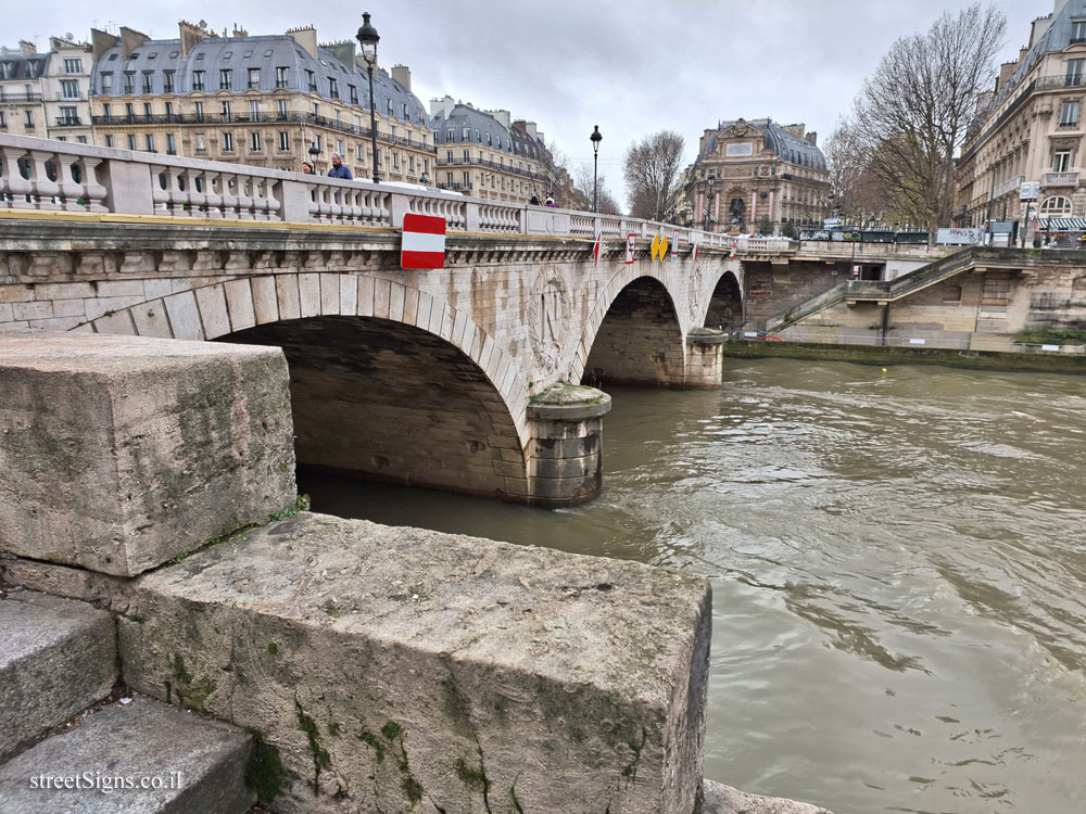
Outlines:
{"label": "middle arch of the stone bridge, between the two round-topped piers", "polygon": [[615,275],[589,316],[572,378],[594,384],[682,386],[683,329],[665,279],[632,267]]}

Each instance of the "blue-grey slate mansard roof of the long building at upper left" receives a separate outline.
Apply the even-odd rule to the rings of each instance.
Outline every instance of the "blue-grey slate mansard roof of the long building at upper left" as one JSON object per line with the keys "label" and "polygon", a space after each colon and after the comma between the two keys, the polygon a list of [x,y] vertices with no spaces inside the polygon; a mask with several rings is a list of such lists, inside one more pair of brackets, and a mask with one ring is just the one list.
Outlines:
{"label": "blue-grey slate mansard roof of the long building at upper left", "polygon": [[[111,96],[123,93],[125,73],[136,74],[135,96],[140,96],[143,74],[151,74],[151,92],[164,92],[166,72],[174,72],[174,93],[192,91],[192,74],[204,72],[204,93],[213,94],[219,89],[219,71],[230,69],[231,87],[235,92],[249,87],[249,69],[260,68],[260,90],[270,92],[276,89],[277,68],[287,68],[288,90],[310,89],[307,71],[313,72],[316,92],[326,99],[331,96],[331,80],[336,81],[338,98],[351,104],[351,86],[358,97],[357,106],[369,110],[369,85],[366,74],[354,65],[346,65],[331,51],[318,48],[317,58],[298,44],[289,35],[265,35],[256,37],[210,38],[194,46],[188,56],[181,56],[179,39],[144,40],[131,59],[122,60],[121,46],[108,49],[94,63],[91,73],[91,93],[100,94],[101,75],[113,73]],[[390,104],[391,103],[391,104]],[[411,91],[393,79],[386,71],[374,74],[374,104],[382,116],[391,116],[402,122],[413,122],[429,126],[426,109]]]}

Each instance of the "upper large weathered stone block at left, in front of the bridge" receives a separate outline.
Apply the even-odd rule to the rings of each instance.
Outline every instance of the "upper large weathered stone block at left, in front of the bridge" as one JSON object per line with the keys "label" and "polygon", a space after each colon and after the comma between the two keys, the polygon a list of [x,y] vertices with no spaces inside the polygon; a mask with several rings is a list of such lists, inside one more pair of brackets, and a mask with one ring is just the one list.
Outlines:
{"label": "upper large weathered stone block at left, in front of the bridge", "polygon": [[0,550],[134,575],[294,500],[278,348],[0,339]]}

